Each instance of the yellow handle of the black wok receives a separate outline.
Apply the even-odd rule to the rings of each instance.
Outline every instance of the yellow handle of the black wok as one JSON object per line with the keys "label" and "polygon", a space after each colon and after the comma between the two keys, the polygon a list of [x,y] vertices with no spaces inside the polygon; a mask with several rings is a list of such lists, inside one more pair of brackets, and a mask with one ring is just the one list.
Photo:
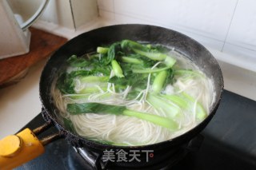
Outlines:
{"label": "yellow handle of the black wok", "polygon": [[0,140],[0,169],[7,170],[18,167],[35,157],[45,149],[29,128],[16,135],[6,136]]}

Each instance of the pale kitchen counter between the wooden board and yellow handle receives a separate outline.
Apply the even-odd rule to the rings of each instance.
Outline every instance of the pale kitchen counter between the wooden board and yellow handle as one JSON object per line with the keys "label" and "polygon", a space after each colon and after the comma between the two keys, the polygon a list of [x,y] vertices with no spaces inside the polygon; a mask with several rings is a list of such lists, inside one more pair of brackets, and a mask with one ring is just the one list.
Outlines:
{"label": "pale kitchen counter between the wooden board and yellow handle", "polygon": [[46,59],[33,65],[16,85],[0,89],[0,139],[14,134],[41,112],[39,78]]}

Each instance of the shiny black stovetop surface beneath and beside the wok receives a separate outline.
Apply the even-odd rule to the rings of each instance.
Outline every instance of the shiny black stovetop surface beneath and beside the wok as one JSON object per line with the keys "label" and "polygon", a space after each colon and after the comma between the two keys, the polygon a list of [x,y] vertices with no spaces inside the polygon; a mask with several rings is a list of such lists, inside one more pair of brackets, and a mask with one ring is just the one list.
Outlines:
{"label": "shiny black stovetop surface beneath and beside the wok", "polygon": [[[26,127],[45,123],[42,115]],[[43,135],[56,131],[54,127]],[[210,124],[201,133],[201,148],[190,152],[172,169],[256,169],[256,101],[224,91],[221,104]],[[39,136],[40,137],[40,136]],[[23,164],[18,170],[89,169],[66,140],[56,140],[46,146],[46,152]]]}

